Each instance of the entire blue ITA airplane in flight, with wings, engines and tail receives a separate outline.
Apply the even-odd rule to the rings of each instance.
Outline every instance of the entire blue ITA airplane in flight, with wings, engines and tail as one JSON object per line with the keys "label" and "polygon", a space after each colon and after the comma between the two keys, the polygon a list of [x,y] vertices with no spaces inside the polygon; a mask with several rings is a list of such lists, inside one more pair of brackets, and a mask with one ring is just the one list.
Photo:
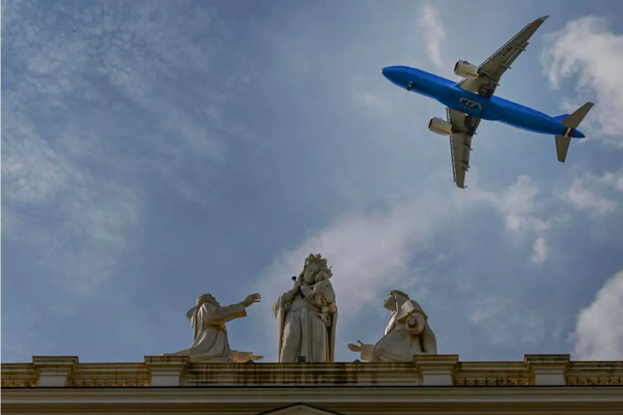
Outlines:
{"label": "entire blue ITA airplane in flight, with wings, engines and tail", "polygon": [[521,29],[480,66],[458,60],[454,65],[454,74],[463,78],[458,83],[406,66],[389,66],[381,70],[384,77],[397,86],[434,98],[447,107],[446,120],[432,117],[428,128],[434,133],[450,136],[452,173],[457,187],[467,187],[464,184],[465,172],[469,169],[472,136],[481,119],[556,136],[556,153],[562,163],[567,157],[571,138],[584,137],[576,127],[592,108],[592,102],[585,103],[572,114],[549,117],[532,108],[493,96],[500,77],[526,49],[528,39],[548,17],[540,17]]}

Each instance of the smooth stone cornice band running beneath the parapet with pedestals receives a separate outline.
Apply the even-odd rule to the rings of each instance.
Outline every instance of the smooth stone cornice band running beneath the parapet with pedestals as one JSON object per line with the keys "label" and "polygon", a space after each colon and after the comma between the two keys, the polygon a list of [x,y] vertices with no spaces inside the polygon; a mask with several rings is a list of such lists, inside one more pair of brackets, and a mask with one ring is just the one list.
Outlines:
{"label": "smooth stone cornice band running beneath the parapet with pedestals", "polygon": [[517,388],[406,386],[301,386],[208,388],[6,388],[0,390],[0,413],[158,411],[259,413],[305,403],[348,413],[400,411],[531,411],[560,413],[616,411],[623,404],[620,387],[541,386]]}

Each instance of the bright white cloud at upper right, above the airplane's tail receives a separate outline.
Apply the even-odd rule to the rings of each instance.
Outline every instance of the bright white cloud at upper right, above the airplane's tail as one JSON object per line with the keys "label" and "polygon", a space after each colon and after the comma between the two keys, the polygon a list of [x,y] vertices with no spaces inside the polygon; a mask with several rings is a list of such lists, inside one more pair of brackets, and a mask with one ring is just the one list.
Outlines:
{"label": "bright white cloud at upper right, above the airplane's tail", "polygon": [[541,62],[551,84],[559,87],[562,79],[578,75],[584,100],[596,95],[587,117],[589,128],[591,119],[597,120],[596,132],[606,135],[607,142],[623,146],[623,35],[607,31],[603,19],[587,16],[568,22],[548,39]]}

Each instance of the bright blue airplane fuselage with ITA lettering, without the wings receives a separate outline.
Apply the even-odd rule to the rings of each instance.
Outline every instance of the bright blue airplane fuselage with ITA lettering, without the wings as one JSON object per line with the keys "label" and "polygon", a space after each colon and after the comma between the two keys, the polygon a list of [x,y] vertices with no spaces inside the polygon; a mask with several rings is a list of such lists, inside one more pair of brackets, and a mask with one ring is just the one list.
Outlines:
{"label": "bright blue airplane fuselage with ITA lettering, without the wings", "polygon": [[423,70],[392,66],[383,69],[383,75],[395,85],[434,98],[446,107],[483,120],[503,122],[508,125],[557,136],[583,138],[584,134],[561,124],[566,115],[549,117],[542,112],[528,108],[500,97],[483,98],[457,86],[455,81],[439,77]]}

